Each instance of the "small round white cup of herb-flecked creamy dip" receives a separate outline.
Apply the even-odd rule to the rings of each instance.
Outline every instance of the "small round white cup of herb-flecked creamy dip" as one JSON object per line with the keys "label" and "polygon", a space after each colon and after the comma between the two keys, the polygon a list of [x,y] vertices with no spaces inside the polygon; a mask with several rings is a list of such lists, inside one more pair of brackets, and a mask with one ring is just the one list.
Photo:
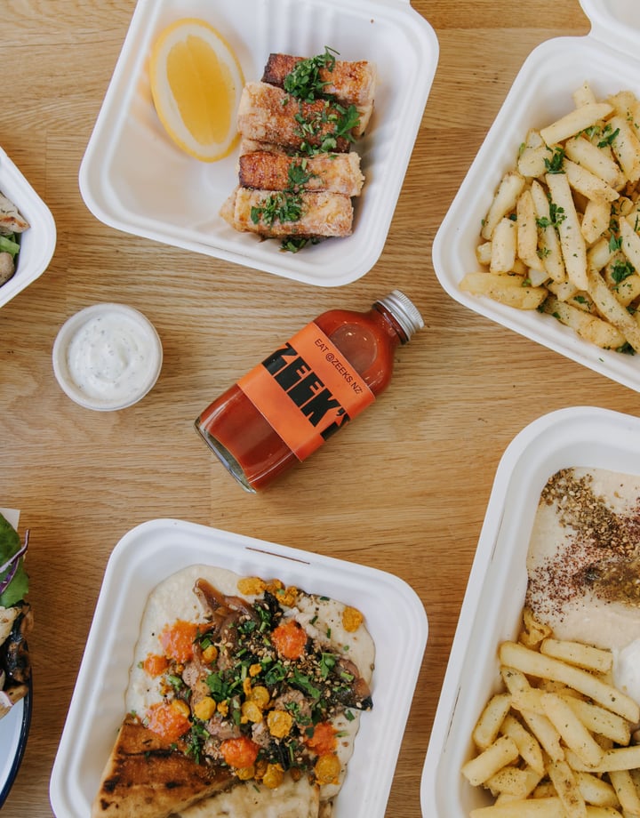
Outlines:
{"label": "small round white cup of herb-flecked creamy dip", "polygon": [[153,325],[137,309],[97,304],[63,325],[53,346],[60,386],[90,409],[130,406],[156,383],[162,345]]}

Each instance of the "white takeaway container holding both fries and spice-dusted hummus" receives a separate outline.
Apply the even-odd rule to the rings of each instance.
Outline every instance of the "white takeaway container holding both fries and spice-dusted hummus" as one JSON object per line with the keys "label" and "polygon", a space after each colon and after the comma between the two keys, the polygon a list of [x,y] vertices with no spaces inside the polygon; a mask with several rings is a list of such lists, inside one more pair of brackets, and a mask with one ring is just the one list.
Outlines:
{"label": "white takeaway container holding both fries and spice-dusted hummus", "polygon": [[498,647],[520,630],[540,492],[559,469],[580,466],[640,474],[640,419],[588,406],[561,409],[532,422],[503,454],[422,771],[424,818],[468,818],[491,803],[460,768],[473,754],[471,733],[484,705],[501,689]]}

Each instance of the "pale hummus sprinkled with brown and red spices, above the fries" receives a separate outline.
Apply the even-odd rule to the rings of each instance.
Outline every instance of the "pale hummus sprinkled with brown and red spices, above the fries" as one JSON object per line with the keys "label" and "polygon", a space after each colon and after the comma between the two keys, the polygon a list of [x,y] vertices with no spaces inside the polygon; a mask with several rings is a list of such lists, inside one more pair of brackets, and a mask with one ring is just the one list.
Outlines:
{"label": "pale hummus sprinkled with brown and red spices, above the fries", "polygon": [[614,680],[640,702],[640,478],[562,469],[541,496],[526,605],[559,639],[611,649]]}

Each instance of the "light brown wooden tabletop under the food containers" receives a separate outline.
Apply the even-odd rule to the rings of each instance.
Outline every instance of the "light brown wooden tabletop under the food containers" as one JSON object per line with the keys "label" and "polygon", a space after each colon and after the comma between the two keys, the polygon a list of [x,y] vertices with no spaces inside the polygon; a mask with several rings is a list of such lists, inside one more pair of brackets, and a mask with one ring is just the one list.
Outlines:
{"label": "light brown wooden tabletop under the food containers", "polygon": [[[396,573],[428,613],[428,647],[388,802],[420,815],[420,773],[492,477],[509,441],[571,405],[638,411],[637,395],[452,301],[433,237],[527,54],[580,36],[578,0],[414,0],[441,46],[388,241],[365,277],[322,289],[109,229],[77,173],[134,0],[4,0],[0,144],[50,206],[50,268],[0,312],[0,505],[31,532],[31,733],[6,818],[52,815],[48,787],[105,565],[116,542],[178,517]],[[249,496],[193,430],[210,398],[324,309],[399,287],[426,328],[377,405],[273,491]],[[64,320],[97,301],[142,309],[164,341],[156,388],[92,413],[53,378]],[[230,343],[233,341],[233,343]],[[0,748],[0,753],[2,749]],[[60,816],[64,818],[64,816]]]}

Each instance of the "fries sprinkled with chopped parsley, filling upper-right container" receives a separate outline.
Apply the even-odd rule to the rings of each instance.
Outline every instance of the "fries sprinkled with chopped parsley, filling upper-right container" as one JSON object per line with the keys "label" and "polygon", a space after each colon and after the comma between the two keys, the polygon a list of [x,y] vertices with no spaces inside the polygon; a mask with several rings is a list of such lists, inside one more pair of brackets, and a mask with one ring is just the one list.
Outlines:
{"label": "fries sprinkled with chopped parsley, filling upper-right container", "polygon": [[596,100],[584,83],[572,100],[526,134],[460,289],[536,309],[601,349],[640,352],[640,99]]}

